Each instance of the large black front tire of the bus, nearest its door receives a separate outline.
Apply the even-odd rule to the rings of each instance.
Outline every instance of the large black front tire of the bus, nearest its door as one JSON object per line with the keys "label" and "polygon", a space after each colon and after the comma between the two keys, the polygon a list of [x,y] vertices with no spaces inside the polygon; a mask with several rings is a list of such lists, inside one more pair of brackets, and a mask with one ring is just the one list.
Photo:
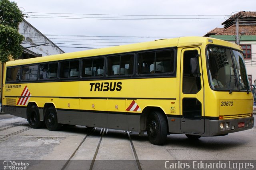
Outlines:
{"label": "large black front tire of the bus, nearest its door", "polygon": [[167,123],[164,115],[152,111],[147,119],[147,133],[149,141],[154,145],[162,145],[167,137]]}

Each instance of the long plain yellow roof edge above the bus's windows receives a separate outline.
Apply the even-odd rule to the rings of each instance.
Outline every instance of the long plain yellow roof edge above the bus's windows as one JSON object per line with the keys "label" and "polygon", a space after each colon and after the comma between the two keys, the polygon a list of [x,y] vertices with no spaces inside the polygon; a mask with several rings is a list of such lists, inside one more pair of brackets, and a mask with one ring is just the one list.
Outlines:
{"label": "long plain yellow roof edge above the bus's windows", "polygon": [[211,43],[208,41],[208,39],[211,39],[214,44],[224,45],[224,46],[232,47],[234,49],[241,50],[240,46],[234,43],[230,43],[228,41],[220,40],[220,39],[215,39],[210,37],[178,37],[173,39],[160,39],[160,40],[148,41],[144,43],[135,43],[135,44],[128,44],[128,45],[120,45],[115,47],[106,47],[106,48],[100,48],[100,49],[92,49],[92,50],[50,55],[50,56],[44,56],[44,57],[36,57],[32,59],[9,61],[6,63],[6,66],[15,66],[20,64],[31,64],[31,63],[44,63],[44,62],[58,61],[58,60],[65,60],[65,59],[73,59],[73,58],[75,59],[75,58],[91,57],[91,56],[103,56],[103,55],[110,55],[110,54],[128,53],[128,52],[134,52],[134,51],[161,49],[161,48],[168,48],[168,47],[183,47],[183,46],[202,45],[202,44],[207,45]]}

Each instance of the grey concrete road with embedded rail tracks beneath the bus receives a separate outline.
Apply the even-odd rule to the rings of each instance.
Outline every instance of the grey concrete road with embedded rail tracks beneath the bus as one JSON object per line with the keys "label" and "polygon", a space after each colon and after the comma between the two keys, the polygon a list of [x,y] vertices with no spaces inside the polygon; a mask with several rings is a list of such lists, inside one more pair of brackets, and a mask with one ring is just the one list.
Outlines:
{"label": "grey concrete road with embedded rail tracks beneath the bus", "polygon": [[156,146],[147,136],[135,132],[83,126],[63,127],[61,131],[31,129],[26,119],[0,115],[0,169],[8,164],[24,169],[60,170],[193,169],[193,160],[222,161],[224,169],[238,169],[238,162],[243,162],[245,168],[250,160],[250,169],[256,168],[255,156],[255,125],[247,131],[194,141],[185,135],[168,135],[165,145]]}

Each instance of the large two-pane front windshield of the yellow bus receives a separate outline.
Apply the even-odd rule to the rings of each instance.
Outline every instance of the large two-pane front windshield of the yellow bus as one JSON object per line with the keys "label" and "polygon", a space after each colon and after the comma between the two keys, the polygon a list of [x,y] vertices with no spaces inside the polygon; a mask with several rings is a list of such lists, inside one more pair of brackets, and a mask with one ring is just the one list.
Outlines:
{"label": "large two-pane front windshield of the yellow bus", "polygon": [[207,59],[212,89],[230,92],[250,89],[242,53],[224,47],[208,46]]}

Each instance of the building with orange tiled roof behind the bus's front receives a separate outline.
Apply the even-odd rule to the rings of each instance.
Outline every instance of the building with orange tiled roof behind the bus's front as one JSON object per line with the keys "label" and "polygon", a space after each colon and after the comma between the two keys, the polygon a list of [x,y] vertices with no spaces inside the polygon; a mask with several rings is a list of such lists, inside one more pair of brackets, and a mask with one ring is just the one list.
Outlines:
{"label": "building with orange tiled roof behind the bus's front", "polygon": [[205,37],[222,39],[239,44],[244,51],[244,61],[250,84],[256,80],[256,12],[241,11],[214,28]]}

